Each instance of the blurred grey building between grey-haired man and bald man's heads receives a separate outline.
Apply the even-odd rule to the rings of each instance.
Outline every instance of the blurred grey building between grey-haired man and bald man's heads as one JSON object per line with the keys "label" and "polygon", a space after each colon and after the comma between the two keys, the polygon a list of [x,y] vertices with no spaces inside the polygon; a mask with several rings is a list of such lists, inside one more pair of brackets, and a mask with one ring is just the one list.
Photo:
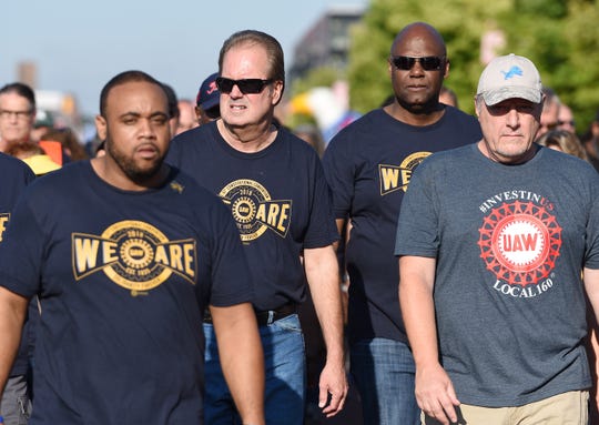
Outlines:
{"label": "blurred grey building between grey-haired man and bald man's heads", "polygon": [[349,52],[349,27],[358,22],[363,14],[363,7],[329,8],[295,45],[290,80],[302,78],[314,68],[344,70]]}

